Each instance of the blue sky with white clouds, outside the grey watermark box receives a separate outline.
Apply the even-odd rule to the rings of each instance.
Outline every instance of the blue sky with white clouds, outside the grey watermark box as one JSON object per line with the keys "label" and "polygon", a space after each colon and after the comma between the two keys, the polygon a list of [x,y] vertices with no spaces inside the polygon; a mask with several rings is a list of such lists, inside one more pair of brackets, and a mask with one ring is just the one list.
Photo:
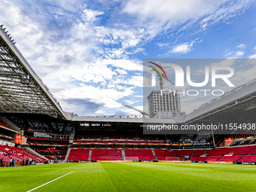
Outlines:
{"label": "blue sky with white clouds, outside the grey watermark box", "polygon": [[142,109],[145,58],[256,58],[255,8],[250,0],[0,0],[0,24],[64,111],[138,114],[121,103]]}

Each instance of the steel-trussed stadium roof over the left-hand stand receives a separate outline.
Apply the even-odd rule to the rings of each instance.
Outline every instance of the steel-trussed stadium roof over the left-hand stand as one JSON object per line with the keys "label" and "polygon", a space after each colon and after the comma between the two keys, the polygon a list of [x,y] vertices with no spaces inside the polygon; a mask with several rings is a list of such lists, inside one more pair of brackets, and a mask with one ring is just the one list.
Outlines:
{"label": "steel-trussed stadium roof over the left-hand stand", "polygon": [[66,119],[41,78],[0,26],[0,112],[48,114]]}

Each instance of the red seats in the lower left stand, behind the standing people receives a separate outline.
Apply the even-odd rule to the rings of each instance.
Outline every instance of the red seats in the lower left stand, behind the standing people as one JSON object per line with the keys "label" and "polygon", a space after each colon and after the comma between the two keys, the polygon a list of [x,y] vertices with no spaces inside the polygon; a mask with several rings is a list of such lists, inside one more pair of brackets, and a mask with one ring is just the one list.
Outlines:
{"label": "red seats in the lower left stand, behind the standing people", "polygon": [[45,159],[38,157],[34,154],[24,151],[21,148],[9,147],[5,145],[0,145],[0,159],[4,158],[5,161],[10,161],[11,158],[19,160],[20,162],[26,159],[32,159],[35,162],[44,162]]}

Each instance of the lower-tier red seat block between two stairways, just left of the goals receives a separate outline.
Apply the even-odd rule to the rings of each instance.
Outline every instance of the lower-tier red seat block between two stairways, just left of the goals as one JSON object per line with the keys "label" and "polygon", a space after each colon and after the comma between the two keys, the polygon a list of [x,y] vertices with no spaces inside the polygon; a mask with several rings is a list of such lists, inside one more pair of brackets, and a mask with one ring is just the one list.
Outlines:
{"label": "lower-tier red seat block between two stairways, just left of the goals", "polygon": [[120,149],[93,149],[91,160],[123,160]]}

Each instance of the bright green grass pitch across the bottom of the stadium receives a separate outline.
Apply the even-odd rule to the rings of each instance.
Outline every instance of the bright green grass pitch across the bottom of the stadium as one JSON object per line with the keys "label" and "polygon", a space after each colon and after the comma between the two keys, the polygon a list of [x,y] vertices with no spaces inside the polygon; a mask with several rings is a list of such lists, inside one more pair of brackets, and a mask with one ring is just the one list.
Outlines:
{"label": "bright green grass pitch across the bottom of the stadium", "polygon": [[[72,172],[75,171],[75,172]],[[256,166],[62,163],[0,169],[0,191],[255,191]]]}

